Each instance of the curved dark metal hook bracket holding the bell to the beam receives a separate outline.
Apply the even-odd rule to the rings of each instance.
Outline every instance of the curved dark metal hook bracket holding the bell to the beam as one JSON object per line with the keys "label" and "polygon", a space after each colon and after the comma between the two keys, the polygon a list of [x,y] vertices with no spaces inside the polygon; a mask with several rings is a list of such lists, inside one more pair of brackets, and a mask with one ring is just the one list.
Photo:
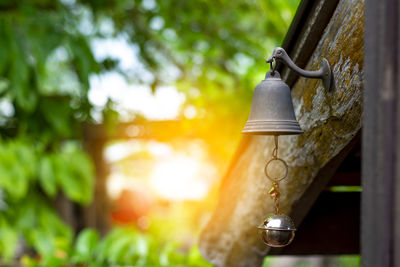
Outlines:
{"label": "curved dark metal hook bracket holding the bell to the beam", "polygon": [[294,64],[292,59],[286,53],[285,49],[277,47],[272,53],[272,56],[268,58],[266,61],[270,63],[273,62],[274,60],[282,61],[286,66],[288,66],[290,69],[292,69],[300,76],[311,79],[322,79],[325,89],[328,91],[330,90],[332,85],[332,71],[328,60],[326,60],[325,58],[322,59],[319,70],[316,71],[303,70],[299,68],[296,64]]}

